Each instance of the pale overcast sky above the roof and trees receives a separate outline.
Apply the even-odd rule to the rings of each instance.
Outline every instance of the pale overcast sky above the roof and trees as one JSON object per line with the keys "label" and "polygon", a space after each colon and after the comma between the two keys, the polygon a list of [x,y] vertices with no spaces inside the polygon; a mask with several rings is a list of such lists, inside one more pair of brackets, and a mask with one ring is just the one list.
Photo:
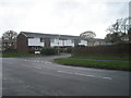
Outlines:
{"label": "pale overcast sky above the roof and trees", "polygon": [[130,0],[0,0],[0,36],[7,30],[104,38],[116,20],[129,16]]}

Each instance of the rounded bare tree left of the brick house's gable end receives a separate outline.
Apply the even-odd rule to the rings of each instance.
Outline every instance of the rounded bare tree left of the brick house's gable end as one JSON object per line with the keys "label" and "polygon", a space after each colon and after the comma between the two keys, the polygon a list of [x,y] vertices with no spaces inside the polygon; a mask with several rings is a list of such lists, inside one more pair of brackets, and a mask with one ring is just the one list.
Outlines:
{"label": "rounded bare tree left of the brick house's gable end", "polygon": [[4,32],[4,34],[2,35],[2,39],[16,39],[17,33],[14,30],[7,30]]}

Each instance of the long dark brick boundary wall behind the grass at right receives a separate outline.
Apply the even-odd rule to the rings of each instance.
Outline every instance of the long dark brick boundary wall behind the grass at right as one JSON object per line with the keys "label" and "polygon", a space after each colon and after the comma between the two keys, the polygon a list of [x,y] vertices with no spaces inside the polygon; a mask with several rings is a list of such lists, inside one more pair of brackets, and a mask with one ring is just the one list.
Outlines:
{"label": "long dark brick boundary wall behind the grass at right", "polygon": [[[96,46],[96,47],[78,47],[74,48],[74,56],[129,56],[131,44]],[[131,54],[130,54],[131,56]]]}

